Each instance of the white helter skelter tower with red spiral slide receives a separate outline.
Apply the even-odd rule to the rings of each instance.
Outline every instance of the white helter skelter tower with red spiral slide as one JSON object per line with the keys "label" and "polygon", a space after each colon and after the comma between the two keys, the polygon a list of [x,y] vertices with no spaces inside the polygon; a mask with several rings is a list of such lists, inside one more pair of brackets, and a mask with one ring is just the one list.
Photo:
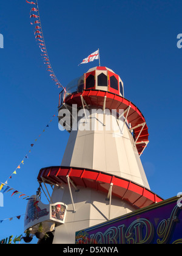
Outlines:
{"label": "white helter skelter tower with red spiral slide", "polygon": [[[97,66],[68,87],[59,97],[59,124],[70,132],[61,166],[42,168],[38,176],[55,185],[52,202],[67,205],[53,243],[75,243],[78,230],[162,201],[150,191],[140,160],[149,143],[146,120],[124,98],[120,77]],[[108,129],[109,122],[115,126]]]}

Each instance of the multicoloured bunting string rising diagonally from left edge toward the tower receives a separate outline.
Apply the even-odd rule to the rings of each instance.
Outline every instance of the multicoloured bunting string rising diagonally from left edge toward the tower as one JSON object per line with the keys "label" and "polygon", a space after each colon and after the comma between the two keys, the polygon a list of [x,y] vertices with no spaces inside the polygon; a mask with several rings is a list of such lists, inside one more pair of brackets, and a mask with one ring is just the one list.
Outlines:
{"label": "multicoloured bunting string rising diagonally from left edge toward the tower", "polygon": [[8,180],[9,180],[9,179],[12,179],[12,176],[13,176],[14,174],[16,175],[16,174],[17,174],[17,171],[22,168],[22,166],[24,165],[25,160],[27,160],[27,159],[29,158],[29,154],[32,152],[33,146],[35,146],[35,143],[38,141],[38,138],[41,137],[42,133],[44,133],[45,130],[49,127],[50,123],[52,123],[53,118],[55,118],[55,115],[52,116],[52,119],[49,121],[49,123],[47,123],[47,125],[44,127],[44,130],[42,130],[42,132],[39,134],[39,136],[36,138],[36,140],[33,141],[32,144],[30,144],[29,152],[27,152],[27,154],[25,154],[25,157],[22,158],[21,163],[19,163],[19,165],[18,165],[18,167],[16,167],[15,171],[12,172],[12,174],[10,175],[10,177],[8,177],[8,179],[7,179],[4,183],[1,183],[0,191],[2,190],[2,188],[4,187],[4,185],[7,185]]}

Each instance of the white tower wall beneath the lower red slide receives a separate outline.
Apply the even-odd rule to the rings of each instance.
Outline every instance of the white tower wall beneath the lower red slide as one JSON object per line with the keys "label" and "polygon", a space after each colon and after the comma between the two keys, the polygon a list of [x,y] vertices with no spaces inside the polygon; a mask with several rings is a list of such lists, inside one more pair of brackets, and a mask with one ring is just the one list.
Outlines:
{"label": "white tower wall beneath the lower red slide", "polygon": [[106,200],[106,193],[82,188],[78,192],[72,190],[75,211],[69,196],[69,188],[55,188],[52,201],[64,201],[67,206],[66,222],[56,227],[53,244],[74,244],[75,232],[86,229],[109,219],[135,211],[126,201],[112,197],[112,205]]}

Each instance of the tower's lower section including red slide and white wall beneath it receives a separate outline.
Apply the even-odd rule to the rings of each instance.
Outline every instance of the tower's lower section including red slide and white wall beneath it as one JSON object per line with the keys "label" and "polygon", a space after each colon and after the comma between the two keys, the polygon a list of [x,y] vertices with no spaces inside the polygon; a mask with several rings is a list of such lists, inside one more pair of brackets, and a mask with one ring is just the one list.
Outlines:
{"label": "tower's lower section including red slide and white wall beneath it", "polygon": [[75,232],[126,215],[163,199],[140,184],[85,168],[42,168],[38,182],[55,185],[52,204],[67,205],[66,221],[55,228],[53,243],[75,243]]}

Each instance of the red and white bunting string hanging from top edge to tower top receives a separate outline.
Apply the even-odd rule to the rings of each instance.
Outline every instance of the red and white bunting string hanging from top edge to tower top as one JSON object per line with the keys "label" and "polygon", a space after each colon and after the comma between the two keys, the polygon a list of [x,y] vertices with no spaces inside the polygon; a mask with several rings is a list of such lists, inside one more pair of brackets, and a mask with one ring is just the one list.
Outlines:
{"label": "red and white bunting string hanging from top edge to tower top", "polygon": [[[64,88],[61,85],[58,78],[56,77],[56,75],[53,71],[52,65],[50,63],[49,55],[48,55],[47,48],[46,48],[46,45],[45,45],[43,30],[42,30],[42,26],[41,26],[41,18],[40,18],[40,13],[39,13],[38,0],[36,0],[36,2],[29,2],[29,1],[26,0],[26,2],[28,4],[36,5],[36,8],[33,7],[30,10],[30,19],[33,20],[30,24],[35,26],[35,29],[34,29],[35,39],[36,39],[36,42],[39,44],[39,48],[40,48],[41,53],[42,53],[41,56],[42,56],[42,59],[44,61],[44,64],[46,65],[47,71],[49,73],[51,73],[50,77],[53,80],[54,84],[56,86],[58,86],[58,88],[62,87],[64,90],[66,90],[66,88]],[[36,13],[36,14],[34,14],[34,13]]]}

